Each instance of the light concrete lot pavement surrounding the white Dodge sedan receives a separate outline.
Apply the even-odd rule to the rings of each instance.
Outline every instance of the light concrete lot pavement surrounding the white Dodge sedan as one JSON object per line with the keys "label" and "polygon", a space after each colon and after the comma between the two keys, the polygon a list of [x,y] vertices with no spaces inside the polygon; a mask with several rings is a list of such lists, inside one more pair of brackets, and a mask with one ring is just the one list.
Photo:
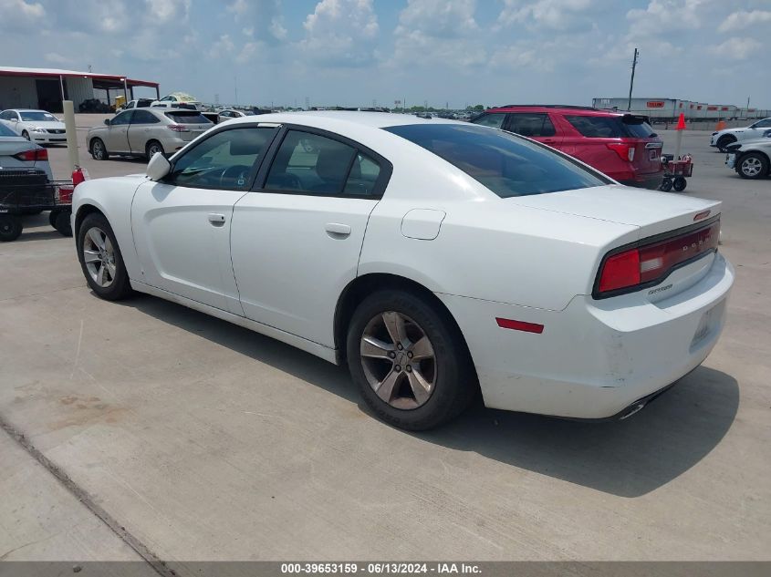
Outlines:
{"label": "light concrete lot pavement surrounding the white Dodge sedan", "polygon": [[[170,561],[771,560],[771,180],[725,169],[708,134],[685,134],[684,194],[724,201],[727,325],[628,420],[477,406],[429,433],[387,427],[342,367],[149,296],[99,300],[45,215],[0,245],[0,417]],[[66,150],[49,154],[65,178]],[[0,441],[6,499],[50,507],[5,506],[0,559],[125,558],[109,535],[57,538],[89,513],[24,455]]]}

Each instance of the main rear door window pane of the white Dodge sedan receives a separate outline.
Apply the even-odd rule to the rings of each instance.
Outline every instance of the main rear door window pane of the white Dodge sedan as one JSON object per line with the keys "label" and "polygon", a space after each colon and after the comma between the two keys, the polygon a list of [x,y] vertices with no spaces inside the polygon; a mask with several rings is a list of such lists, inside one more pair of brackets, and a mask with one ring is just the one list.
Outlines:
{"label": "main rear door window pane of the white Dodge sedan", "polygon": [[267,175],[268,191],[342,194],[357,150],[318,134],[289,130]]}

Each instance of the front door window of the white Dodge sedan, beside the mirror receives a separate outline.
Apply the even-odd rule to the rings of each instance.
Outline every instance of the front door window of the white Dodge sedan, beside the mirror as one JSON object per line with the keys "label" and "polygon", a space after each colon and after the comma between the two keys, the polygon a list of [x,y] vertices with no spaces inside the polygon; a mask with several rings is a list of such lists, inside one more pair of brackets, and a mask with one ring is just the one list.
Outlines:
{"label": "front door window of the white Dodge sedan, beside the mirror", "polygon": [[164,182],[177,186],[245,191],[274,128],[222,130],[185,152]]}

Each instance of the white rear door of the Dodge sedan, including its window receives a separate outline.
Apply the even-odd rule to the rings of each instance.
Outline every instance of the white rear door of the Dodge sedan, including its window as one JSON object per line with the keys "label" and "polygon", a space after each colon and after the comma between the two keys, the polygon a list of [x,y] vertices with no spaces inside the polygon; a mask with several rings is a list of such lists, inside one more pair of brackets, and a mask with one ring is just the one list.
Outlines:
{"label": "white rear door of the Dodge sedan, including its window", "polygon": [[391,164],[335,135],[287,127],[235,204],[231,258],[245,315],[333,347],[335,305],[356,277]]}

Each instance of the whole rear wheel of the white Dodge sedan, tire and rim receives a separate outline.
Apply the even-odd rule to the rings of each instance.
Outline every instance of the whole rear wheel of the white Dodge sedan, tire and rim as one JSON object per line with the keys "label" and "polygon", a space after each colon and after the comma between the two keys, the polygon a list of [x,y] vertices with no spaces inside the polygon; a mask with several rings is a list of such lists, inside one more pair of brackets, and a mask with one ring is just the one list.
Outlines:
{"label": "whole rear wheel of the white Dodge sedan, tire and rim", "polygon": [[367,405],[408,430],[458,416],[477,390],[463,337],[446,314],[402,290],[370,294],[349,324],[348,364]]}

